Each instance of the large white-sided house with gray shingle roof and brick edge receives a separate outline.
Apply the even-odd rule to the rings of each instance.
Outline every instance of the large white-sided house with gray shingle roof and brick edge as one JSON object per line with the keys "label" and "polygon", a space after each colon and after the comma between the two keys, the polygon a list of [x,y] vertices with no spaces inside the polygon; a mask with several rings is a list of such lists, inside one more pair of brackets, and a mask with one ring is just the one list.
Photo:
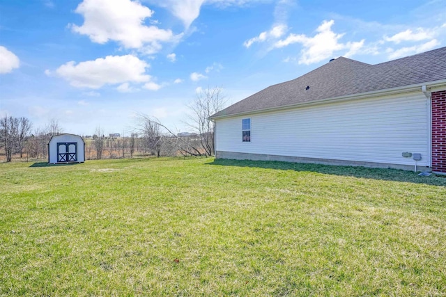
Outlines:
{"label": "large white-sided house with gray shingle roof and brick edge", "polygon": [[215,156],[446,174],[446,47],[332,59],[210,116]]}

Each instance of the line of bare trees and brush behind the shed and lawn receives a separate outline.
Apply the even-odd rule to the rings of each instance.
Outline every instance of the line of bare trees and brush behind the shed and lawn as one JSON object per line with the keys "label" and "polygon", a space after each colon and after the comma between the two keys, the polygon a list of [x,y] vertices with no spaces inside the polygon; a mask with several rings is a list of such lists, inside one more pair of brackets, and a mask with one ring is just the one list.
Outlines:
{"label": "line of bare trees and brush behind the shed and lawn", "polygon": [[[160,120],[150,115],[139,114],[130,136],[105,136],[101,127],[96,127],[86,141],[86,159],[132,158],[134,154],[151,156],[212,156],[215,154],[214,124],[210,115],[224,107],[221,88],[207,88],[197,93],[196,99],[187,105],[190,113],[185,125],[190,133],[176,133]],[[32,123],[27,118],[6,115],[0,119],[0,149],[6,161],[13,155],[26,158],[46,159],[47,143],[63,129],[57,120],[49,120],[43,129],[31,131]]]}

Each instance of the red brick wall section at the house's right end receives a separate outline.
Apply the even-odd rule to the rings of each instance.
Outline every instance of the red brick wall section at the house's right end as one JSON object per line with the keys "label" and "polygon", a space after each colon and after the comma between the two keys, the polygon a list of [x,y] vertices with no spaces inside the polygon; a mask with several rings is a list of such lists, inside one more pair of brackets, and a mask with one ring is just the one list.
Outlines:
{"label": "red brick wall section at the house's right end", "polygon": [[432,171],[446,173],[446,90],[432,93]]}

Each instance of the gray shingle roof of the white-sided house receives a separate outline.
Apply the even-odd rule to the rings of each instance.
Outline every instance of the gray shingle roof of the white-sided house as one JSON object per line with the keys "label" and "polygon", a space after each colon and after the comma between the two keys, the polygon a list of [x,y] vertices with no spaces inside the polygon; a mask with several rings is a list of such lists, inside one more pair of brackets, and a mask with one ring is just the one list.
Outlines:
{"label": "gray shingle roof of the white-sided house", "polygon": [[443,79],[446,47],[376,65],[340,57],[302,77],[269,86],[210,118]]}

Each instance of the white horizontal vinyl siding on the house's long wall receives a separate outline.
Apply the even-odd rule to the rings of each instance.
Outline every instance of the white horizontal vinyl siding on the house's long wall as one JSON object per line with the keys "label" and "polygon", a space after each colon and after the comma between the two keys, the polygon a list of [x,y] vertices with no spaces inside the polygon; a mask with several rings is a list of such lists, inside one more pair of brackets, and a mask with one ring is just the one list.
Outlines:
{"label": "white horizontal vinyl siding on the house's long wall", "polygon": [[418,165],[430,166],[428,104],[416,94],[252,114],[248,146],[240,139],[246,115],[220,119],[216,150],[403,165],[414,161],[402,152],[417,152]]}

